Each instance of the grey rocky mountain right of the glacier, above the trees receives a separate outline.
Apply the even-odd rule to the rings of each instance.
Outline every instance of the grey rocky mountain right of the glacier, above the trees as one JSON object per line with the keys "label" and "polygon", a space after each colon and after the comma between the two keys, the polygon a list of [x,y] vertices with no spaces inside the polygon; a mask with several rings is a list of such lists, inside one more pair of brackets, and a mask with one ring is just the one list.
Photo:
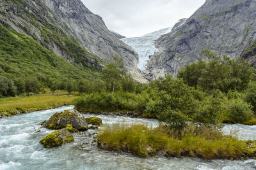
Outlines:
{"label": "grey rocky mountain right of the glacier, above the trees", "polygon": [[154,80],[177,74],[184,65],[202,57],[207,48],[231,58],[240,57],[256,39],[255,0],[207,0],[185,24],[156,40],[143,76]]}

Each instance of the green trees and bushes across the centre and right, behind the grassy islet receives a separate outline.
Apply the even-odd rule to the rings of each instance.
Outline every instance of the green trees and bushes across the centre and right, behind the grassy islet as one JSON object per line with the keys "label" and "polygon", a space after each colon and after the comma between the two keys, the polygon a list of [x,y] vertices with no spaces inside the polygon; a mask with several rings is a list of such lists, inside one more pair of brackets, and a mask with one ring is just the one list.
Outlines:
{"label": "green trees and bushes across the centre and right, behind the grassy islet", "polygon": [[209,50],[202,53],[208,62],[198,60],[181,69],[177,78],[166,74],[148,85],[129,80],[129,76],[122,76],[122,67],[109,64],[111,69],[104,71],[106,88],[87,91],[76,100],[76,108],[131,111],[159,118],[175,129],[190,122],[207,126],[221,122],[255,124],[255,69],[244,60]]}

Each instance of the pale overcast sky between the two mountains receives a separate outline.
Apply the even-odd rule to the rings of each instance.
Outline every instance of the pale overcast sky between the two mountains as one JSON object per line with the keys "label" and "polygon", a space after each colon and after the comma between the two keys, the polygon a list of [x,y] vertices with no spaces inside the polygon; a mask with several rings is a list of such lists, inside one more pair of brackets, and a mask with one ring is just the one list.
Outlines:
{"label": "pale overcast sky between the two mountains", "polygon": [[172,27],[190,17],[205,0],[82,0],[103,18],[108,29],[126,37]]}

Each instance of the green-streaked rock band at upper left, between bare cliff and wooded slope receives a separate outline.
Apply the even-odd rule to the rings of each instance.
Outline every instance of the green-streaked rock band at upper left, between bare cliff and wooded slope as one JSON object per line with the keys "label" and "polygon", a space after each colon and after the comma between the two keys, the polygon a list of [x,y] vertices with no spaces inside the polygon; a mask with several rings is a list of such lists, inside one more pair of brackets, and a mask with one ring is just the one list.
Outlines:
{"label": "green-streaked rock band at upper left, between bare cliff and wooded slope", "polygon": [[103,67],[99,57],[79,46],[68,25],[42,1],[0,1],[0,23],[31,36],[68,62],[83,67],[97,67],[99,70]]}

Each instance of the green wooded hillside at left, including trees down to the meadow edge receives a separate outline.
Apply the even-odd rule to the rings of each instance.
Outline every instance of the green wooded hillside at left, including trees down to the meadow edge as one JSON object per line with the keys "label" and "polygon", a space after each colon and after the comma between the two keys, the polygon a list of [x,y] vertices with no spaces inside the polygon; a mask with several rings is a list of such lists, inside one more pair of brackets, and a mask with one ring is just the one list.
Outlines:
{"label": "green wooded hillside at left, including trees down to the meadow edge", "polygon": [[0,97],[44,92],[45,88],[70,92],[76,90],[77,80],[102,77],[96,69],[70,64],[33,38],[2,24],[0,35]]}

